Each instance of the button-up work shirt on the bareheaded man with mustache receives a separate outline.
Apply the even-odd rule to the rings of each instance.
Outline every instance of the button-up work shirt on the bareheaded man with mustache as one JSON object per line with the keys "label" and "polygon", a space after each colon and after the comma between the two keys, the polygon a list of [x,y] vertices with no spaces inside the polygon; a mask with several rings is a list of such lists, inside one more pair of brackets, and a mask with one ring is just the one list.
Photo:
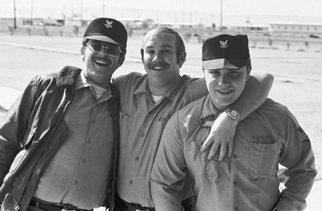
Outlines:
{"label": "button-up work shirt on the bareheaded man with mustache", "polygon": [[[113,81],[121,96],[117,193],[129,203],[154,207],[150,173],[165,124],[177,110],[208,94],[206,83],[183,76],[155,104],[147,75],[131,73]],[[183,199],[193,195],[192,187],[187,188],[182,191]]]}

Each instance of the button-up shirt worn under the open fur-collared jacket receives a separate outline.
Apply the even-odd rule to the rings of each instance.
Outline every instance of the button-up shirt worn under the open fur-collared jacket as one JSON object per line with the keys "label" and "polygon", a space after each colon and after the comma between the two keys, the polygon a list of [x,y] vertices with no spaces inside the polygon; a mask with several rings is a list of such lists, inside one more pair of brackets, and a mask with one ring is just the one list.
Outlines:
{"label": "button-up shirt worn under the open fur-collared jacket", "polygon": [[112,125],[111,91],[97,100],[83,72],[75,86],[76,94],[64,116],[68,135],[43,168],[33,196],[90,210],[101,207],[106,197],[113,162],[113,131],[106,127]]}

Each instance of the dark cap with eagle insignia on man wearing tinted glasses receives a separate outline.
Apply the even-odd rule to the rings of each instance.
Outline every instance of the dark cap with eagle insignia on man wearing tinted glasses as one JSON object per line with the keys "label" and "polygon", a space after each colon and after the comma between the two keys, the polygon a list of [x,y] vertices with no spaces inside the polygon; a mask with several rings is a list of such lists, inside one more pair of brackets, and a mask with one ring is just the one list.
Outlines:
{"label": "dark cap with eagle insignia on man wearing tinted glasses", "polygon": [[126,48],[128,32],[121,22],[113,18],[97,18],[87,26],[84,38],[115,43]]}

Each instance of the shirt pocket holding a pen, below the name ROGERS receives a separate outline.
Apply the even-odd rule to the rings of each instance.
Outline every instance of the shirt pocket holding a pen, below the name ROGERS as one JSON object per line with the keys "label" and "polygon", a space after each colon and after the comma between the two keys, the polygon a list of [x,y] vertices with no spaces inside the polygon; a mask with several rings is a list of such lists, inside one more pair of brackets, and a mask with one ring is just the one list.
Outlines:
{"label": "shirt pocket holding a pen, below the name ROGERS", "polygon": [[249,143],[249,174],[253,177],[272,177],[277,174],[278,143]]}

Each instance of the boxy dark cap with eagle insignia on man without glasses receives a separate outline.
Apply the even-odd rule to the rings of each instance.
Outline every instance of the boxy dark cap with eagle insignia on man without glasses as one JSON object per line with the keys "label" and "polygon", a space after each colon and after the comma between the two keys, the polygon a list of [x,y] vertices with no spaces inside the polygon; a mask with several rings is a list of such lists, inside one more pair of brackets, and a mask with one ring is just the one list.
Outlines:
{"label": "boxy dark cap with eagle insignia on man without glasses", "polygon": [[202,40],[202,67],[238,69],[250,58],[248,37],[237,31],[213,33]]}

